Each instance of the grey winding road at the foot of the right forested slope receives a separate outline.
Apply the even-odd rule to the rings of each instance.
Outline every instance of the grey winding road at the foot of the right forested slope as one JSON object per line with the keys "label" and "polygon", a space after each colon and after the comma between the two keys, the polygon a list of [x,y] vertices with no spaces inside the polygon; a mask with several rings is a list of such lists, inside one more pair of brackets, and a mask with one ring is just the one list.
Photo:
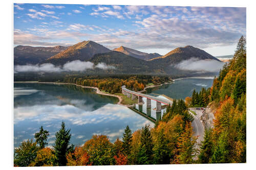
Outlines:
{"label": "grey winding road at the foot of the right forested slope", "polygon": [[195,108],[189,108],[190,110],[193,110],[196,112],[197,115],[194,115],[192,112],[190,112],[194,116],[194,121],[192,122],[193,132],[194,136],[198,137],[196,148],[200,149],[201,141],[204,139],[204,128],[202,126],[202,123],[200,122],[200,117],[203,114],[203,110],[196,110]]}

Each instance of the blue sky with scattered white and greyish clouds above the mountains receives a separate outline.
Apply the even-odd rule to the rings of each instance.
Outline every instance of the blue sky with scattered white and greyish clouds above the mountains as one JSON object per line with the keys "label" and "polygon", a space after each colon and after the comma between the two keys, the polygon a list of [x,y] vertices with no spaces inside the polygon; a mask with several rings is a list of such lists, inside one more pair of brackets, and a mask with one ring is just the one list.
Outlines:
{"label": "blue sky with scattered white and greyish clouds above the mountains", "polygon": [[192,45],[231,55],[246,37],[246,8],[14,4],[14,46],[73,45],[92,40],[165,55]]}

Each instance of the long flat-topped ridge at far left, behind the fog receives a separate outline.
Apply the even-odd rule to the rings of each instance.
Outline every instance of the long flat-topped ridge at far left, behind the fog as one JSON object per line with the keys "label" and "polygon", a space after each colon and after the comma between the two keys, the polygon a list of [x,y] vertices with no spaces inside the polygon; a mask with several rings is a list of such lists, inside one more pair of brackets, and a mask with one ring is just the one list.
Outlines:
{"label": "long flat-topped ridge at far left, behind the fog", "polygon": [[67,48],[68,46],[60,45],[54,47],[18,45],[14,47],[14,65],[38,64]]}

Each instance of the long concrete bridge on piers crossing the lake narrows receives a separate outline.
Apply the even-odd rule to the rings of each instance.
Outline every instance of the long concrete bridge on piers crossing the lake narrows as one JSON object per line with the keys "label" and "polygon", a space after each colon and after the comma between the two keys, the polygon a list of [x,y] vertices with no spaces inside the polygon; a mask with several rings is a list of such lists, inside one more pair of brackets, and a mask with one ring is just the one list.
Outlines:
{"label": "long concrete bridge on piers crossing the lake narrows", "polygon": [[122,93],[124,95],[127,95],[127,98],[131,98],[132,96],[132,100],[134,100],[136,98],[136,96],[138,96],[138,103],[143,103],[142,98],[146,98],[146,107],[151,107],[151,100],[156,101],[157,102],[157,107],[156,107],[156,111],[160,112],[161,111],[161,103],[164,105],[172,105],[173,102],[166,100],[166,99],[162,99],[162,98],[157,98],[155,96],[151,96],[151,95],[147,95],[147,94],[143,94],[143,93],[139,93],[139,92],[135,92],[129,89],[126,89],[125,86],[122,86]]}

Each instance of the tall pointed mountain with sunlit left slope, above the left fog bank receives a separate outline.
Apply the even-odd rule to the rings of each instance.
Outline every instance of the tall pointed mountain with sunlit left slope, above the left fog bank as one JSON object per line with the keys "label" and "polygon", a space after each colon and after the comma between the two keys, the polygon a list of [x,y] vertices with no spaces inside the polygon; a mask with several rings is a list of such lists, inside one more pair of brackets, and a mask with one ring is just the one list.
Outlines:
{"label": "tall pointed mountain with sunlit left slope, above the left fog bank", "polygon": [[108,53],[109,48],[104,47],[94,41],[82,41],[67,50],[48,58],[42,63],[52,63],[54,65],[63,65],[69,61],[80,60],[89,61],[93,55],[98,53]]}

